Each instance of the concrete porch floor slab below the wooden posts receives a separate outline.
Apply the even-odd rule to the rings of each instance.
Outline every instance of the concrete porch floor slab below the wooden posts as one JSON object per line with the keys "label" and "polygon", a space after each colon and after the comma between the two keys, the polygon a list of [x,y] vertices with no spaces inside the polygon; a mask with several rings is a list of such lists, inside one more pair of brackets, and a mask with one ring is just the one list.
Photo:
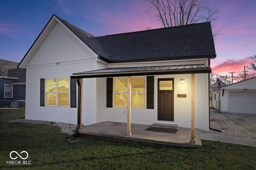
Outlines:
{"label": "concrete porch floor slab below the wooden posts", "polygon": [[100,136],[116,140],[130,140],[136,142],[146,142],[152,144],[162,144],[170,146],[181,146],[190,148],[201,148],[202,142],[199,129],[195,129],[195,144],[190,144],[190,128],[178,128],[174,133],[152,132],[145,129],[151,125],[131,124],[132,136],[126,136],[126,123],[102,122],[83,127],[79,134]]}

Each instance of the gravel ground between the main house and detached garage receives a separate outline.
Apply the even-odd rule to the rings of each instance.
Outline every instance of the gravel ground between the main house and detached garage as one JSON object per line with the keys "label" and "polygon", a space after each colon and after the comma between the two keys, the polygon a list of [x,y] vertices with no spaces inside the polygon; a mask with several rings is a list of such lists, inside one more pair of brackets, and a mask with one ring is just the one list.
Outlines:
{"label": "gravel ground between the main house and detached garage", "polygon": [[222,132],[200,130],[200,133],[232,136],[256,140],[256,115],[237,113],[210,114],[210,127]]}

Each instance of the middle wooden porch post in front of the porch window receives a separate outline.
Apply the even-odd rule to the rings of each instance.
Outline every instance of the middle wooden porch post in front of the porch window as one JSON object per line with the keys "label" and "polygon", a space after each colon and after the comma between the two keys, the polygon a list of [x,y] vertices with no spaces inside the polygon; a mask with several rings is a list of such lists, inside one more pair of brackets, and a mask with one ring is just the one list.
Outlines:
{"label": "middle wooden porch post in front of the porch window", "polygon": [[132,94],[131,94],[131,89],[132,89],[132,78],[131,76],[128,76],[128,88],[127,88],[127,131],[126,131],[126,136],[131,136],[131,99],[132,99]]}

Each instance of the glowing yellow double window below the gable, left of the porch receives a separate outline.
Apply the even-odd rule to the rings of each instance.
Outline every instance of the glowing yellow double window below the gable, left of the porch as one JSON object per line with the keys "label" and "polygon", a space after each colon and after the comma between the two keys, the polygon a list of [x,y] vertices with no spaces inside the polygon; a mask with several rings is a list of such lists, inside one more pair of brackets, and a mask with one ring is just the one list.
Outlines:
{"label": "glowing yellow double window below the gable, left of the porch", "polygon": [[69,78],[46,79],[46,105],[69,106]]}

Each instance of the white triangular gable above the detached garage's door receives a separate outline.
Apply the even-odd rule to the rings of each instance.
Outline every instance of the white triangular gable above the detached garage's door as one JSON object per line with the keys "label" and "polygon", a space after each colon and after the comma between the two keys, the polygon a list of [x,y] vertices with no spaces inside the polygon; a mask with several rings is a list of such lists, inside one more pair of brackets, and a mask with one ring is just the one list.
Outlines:
{"label": "white triangular gable above the detached garage's door", "polygon": [[233,83],[220,89],[256,89],[256,77]]}

